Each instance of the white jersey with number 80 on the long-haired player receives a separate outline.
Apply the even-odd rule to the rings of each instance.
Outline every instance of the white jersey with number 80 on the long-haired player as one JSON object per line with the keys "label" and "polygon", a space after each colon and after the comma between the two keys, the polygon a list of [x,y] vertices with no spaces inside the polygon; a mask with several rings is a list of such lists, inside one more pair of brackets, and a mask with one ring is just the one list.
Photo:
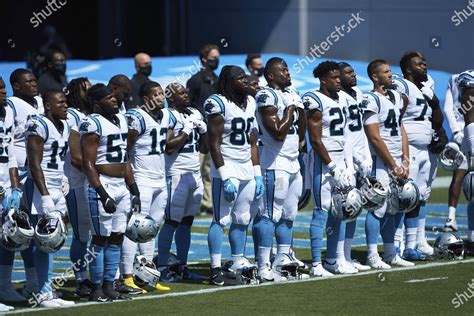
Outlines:
{"label": "white jersey with number 80 on the long-haired player", "polygon": [[[204,102],[206,115],[218,114],[224,118],[222,157],[230,175],[240,180],[254,178],[250,160],[250,134],[253,130],[257,133],[255,107],[255,99],[251,96],[247,98],[245,108],[220,94],[213,94]],[[211,176],[220,177],[214,162],[211,164]]]}

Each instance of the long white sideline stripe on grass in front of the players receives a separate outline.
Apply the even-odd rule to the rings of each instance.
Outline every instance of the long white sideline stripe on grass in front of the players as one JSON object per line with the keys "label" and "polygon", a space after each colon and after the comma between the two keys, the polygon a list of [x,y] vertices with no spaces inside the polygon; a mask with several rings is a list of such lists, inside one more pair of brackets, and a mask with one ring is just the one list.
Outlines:
{"label": "long white sideline stripe on grass in front of the players", "polygon": [[[364,275],[371,275],[371,274],[384,274],[384,273],[393,273],[393,272],[410,271],[410,270],[422,270],[422,269],[428,269],[428,268],[450,266],[454,264],[469,264],[469,263],[474,263],[474,259],[467,259],[467,260],[462,260],[462,261],[449,261],[449,262],[432,262],[432,263],[417,265],[414,267],[394,268],[390,270],[371,270],[371,271],[366,271],[366,272],[360,272],[357,274],[339,274],[339,275],[335,275],[331,277],[312,278],[312,279],[306,279],[306,280],[297,280],[297,281],[281,282],[281,283],[263,283],[259,285],[237,285],[237,286],[227,286],[227,287],[216,287],[216,288],[203,289],[203,290],[194,290],[194,291],[187,291],[187,292],[156,294],[156,295],[148,295],[148,296],[133,298],[132,301],[163,299],[167,297],[178,297],[178,296],[189,296],[189,295],[201,295],[201,294],[209,294],[209,293],[215,293],[215,292],[221,292],[221,291],[232,291],[232,290],[249,288],[249,287],[256,288],[256,287],[262,287],[262,286],[280,286],[280,285],[287,285],[287,284],[293,284],[293,283],[317,282],[317,281],[343,279],[343,278],[357,277],[357,276],[364,276]],[[73,306],[61,307],[61,309],[70,309],[70,308],[85,307],[85,306],[99,305],[99,304],[101,305],[113,304],[113,303],[123,304],[126,302],[130,302],[130,301],[116,301],[116,302],[111,302],[111,303],[88,302],[88,303],[75,304]],[[42,312],[42,311],[53,310],[53,309],[58,309],[58,307],[21,309],[21,310],[9,312],[7,314],[34,313],[34,312]]]}

